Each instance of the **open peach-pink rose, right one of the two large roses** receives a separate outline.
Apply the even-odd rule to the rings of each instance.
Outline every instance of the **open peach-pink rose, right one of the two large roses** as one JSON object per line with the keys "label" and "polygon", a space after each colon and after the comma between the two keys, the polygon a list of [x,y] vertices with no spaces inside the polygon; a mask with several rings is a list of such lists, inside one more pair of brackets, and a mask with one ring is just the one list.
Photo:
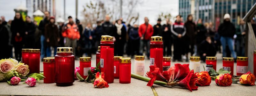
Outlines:
{"label": "open peach-pink rose, right one of the two large roses", "polygon": [[24,63],[20,63],[16,66],[15,71],[17,71],[21,76],[25,77],[29,73],[28,65],[24,65]]}

